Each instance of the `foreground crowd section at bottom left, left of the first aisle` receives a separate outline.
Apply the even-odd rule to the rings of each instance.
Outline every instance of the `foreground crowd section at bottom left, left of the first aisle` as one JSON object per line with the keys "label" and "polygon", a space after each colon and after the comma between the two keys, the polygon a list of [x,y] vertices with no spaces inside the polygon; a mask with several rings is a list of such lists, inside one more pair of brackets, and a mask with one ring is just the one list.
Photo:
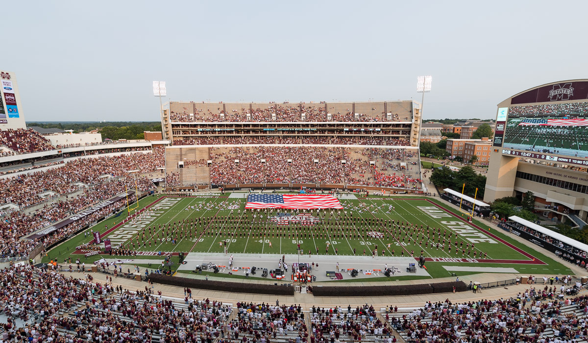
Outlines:
{"label": "foreground crowd section at bottom left, left of the first aisle", "polygon": [[[212,342],[224,335],[229,305],[203,299],[172,302],[23,265],[0,271],[3,342]],[[187,298],[187,297],[186,297]],[[22,323],[29,318],[36,319]],[[223,331],[225,329],[225,331]]]}

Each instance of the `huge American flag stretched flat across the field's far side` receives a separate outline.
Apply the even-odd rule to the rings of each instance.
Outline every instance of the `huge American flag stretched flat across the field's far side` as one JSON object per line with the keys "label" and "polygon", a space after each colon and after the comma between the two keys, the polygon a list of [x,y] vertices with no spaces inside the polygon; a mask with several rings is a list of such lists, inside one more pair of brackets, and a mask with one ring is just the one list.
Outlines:
{"label": "huge American flag stretched flat across the field's far side", "polygon": [[332,195],[278,195],[250,194],[247,209],[253,208],[343,208],[339,199]]}

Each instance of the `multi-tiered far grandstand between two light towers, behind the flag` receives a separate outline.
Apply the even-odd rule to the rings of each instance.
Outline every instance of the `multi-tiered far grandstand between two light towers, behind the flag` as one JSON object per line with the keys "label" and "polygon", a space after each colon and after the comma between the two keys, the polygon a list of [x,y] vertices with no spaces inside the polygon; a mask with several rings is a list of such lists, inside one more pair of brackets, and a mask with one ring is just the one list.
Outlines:
{"label": "multi-tiered far grandstand between two light towers, behind the flag", "polygon": [[170,102],[167,184],[419,191],[417,115],[412,101]]}

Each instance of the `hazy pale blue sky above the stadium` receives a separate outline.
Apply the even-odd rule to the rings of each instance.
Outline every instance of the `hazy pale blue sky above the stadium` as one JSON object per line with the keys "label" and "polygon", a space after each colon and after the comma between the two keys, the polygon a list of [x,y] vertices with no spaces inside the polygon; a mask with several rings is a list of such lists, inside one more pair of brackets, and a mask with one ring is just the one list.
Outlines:
{"label": "hazy pale blue sky above the stadium", "polygon": [[[586,78],[586,1],[3,1],[0,69],[27,121],[159,120],[173,101],[415,98],[427,118],[494,118]],[[167,100],[167,99],[166,99]]]}

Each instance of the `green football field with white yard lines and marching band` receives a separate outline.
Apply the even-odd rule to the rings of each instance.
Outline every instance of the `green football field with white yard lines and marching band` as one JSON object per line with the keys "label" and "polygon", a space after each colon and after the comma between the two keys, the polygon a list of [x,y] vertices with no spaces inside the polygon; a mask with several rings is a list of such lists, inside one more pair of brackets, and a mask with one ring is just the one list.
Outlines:
{"label": "green football field with white yard lines and marching band", "polygon": [[[124,211],[91,230],[100,231],[102,239],[111,239],[115,248],[123,245],[138,251],[133,259],[157,258],[160,251],[163,254],[218,253],[225,249],[229,254],[297,254],[298,245],[307,257],[309,254],[370,255],[377,247],[377,255],[385,257],[419,257],[422,252],[428,258],[427,270],[435,278],[452,274],[443,266],[472,264],[513,267],[526,274],[571,273],[559,262],[534,251],[528,242],[515,241],[496,229],[487,232],[489,227],[474,221],[472,224],[482,228],[477,229],[460,220],[460,215],[457,218],[435,206],[449,209],[448,205],[436,199],[431,201],[434,204],[415,197],[343,199],[343,210],[300,211],[298,216],[290,217],[296,213],[278,209],[245,210],[246,199],[243,198],[162,197],[158,201],[156,197],[146,197],[139,202],[139,208],[150,204],[151,207],[142,214],[121,225],[126,218]],[[292,221],[289,225],[279,225],[276,222],[279,216],[290,217]],[[464,214],[463,218],[466,217]],[[312,221],[313,225],[293,224],[301,218],[305,219],[305,224]],[[83,255],[86,251],[76,249],[92,241],[89,231],[52,249],[44,262],[49,258],[64,261],[70,256],[92,262],[101,257],[114,257],[94,255],[86,259]],[[456,246],[459,247],[457,251]],[[545,264],[536,264],[532,258]],[[509,260],[516,260],[516,263]],[[474,273],[457,271],[455,274]]]}

